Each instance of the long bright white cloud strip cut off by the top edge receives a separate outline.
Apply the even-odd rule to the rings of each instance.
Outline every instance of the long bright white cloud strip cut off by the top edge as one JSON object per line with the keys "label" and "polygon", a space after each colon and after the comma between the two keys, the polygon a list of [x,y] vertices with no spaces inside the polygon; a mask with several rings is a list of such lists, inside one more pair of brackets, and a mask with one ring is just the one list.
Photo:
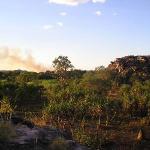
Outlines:
{"label": "long bright white cloud strip cut off by the top edge", "polygon": [[79,4],[93,2],[93,3],[105,3],[106,0],[48,0],[49,3],[55,4],[64,4],[64,5],[71,5],[77,6]]}

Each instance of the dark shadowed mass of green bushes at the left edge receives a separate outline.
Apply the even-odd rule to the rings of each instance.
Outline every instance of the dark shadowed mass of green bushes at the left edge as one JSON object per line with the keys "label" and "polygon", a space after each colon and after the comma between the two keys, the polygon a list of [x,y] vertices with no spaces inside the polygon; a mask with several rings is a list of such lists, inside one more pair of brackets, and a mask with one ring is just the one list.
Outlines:
{"label": "dark shadowed mass of green bushes at the left edge", "polygon": [[0,99],[8,97],[15,110],[32,111],[42,109],[46,98],[44,87],[32,83],[0,82]]}

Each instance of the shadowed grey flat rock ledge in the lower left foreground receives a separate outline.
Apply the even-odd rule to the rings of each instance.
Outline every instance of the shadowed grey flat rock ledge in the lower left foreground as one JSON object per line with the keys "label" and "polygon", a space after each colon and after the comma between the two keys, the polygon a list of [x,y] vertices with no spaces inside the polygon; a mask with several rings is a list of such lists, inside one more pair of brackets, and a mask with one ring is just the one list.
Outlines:
{"label": "shadowed grey flat rock ledge in the lower left foreground", "polygon": [[0,141],[0,150],[88,150],[59,129],[21,124],[14,129],[16,136],[9,142]]}

